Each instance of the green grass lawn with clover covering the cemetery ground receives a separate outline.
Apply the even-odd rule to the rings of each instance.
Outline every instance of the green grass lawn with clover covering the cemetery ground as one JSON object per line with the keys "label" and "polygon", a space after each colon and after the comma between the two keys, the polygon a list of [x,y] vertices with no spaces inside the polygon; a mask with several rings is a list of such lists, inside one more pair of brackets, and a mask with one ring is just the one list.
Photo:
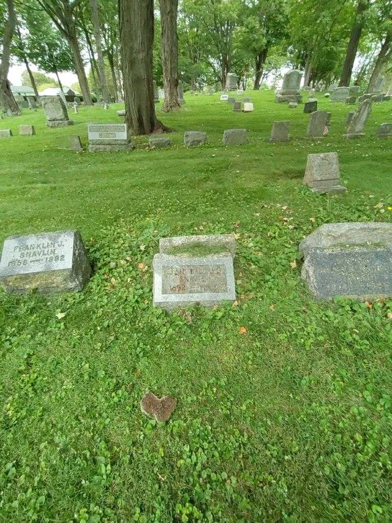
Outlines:
{"label": "green grass lawn with clover covering the cemetery ground", "polygon": [[[251,114],[187,96],[161,115],[170,150],[67,150],[120,106],[70,110],[69,128],[46,128],[42,110],[1,120],[15,136],[0,140],[0,240],[78,229],[94,276],[82,293],[0,291],[0,521],[392,520],[392,300],[316,303],[297,259],[322,223],[390,220],[392,140],[374,131],[392,105],[343,141],[352,109],[321,96],[331,134],[310,141],[301,106],[250,96]],[[293,140],[269,143],[284,119]],[[22,123],[37,135],[19,137]],[[234,127],[246,145],[222,144]],[[185,149],[185,130],[209,145]],[[345,195],[302,187],[307,154],[328,151]],[[152,307],[159,237],[230,232],[238,306]],[[146,391],[177,398],[170,422],[141,413]]]}

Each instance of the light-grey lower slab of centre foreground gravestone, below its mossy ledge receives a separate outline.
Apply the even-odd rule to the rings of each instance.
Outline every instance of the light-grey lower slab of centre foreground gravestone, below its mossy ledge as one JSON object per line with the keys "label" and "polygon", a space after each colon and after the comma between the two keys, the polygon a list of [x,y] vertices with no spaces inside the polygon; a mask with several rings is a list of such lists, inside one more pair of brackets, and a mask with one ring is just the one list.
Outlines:
{"label": "light-grey lower slab of centre foreground gravestone, below its mossy ledge", "polygon": [[236,299],[232,256],[168,256],[156,254],[154,305],[166,310],[200,303],[219,305]]}

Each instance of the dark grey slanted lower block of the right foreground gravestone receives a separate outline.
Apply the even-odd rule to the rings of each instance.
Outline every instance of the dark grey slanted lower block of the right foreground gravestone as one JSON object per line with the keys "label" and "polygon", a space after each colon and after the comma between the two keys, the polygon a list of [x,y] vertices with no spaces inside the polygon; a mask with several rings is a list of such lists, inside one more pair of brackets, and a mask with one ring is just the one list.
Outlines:
{"label": "dark grey slanted lower block of the right foreground gravestone", "polygon": [[312,249],[302,272],[317,299],[337,295],[375,300],[392,297],[392,249],[369,246],[335,246]]}

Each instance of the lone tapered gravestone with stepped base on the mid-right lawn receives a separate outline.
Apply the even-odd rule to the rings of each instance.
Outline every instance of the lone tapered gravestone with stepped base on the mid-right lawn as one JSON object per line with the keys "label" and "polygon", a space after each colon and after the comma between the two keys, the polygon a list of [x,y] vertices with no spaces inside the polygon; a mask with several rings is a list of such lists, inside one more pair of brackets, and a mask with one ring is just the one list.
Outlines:
{"label": "lone tapered gravestone with stepped base on the mid-right lawn", "polygon": [[338,153],[308,154],[304,185],[312,192],[345,192],[340,185]]}

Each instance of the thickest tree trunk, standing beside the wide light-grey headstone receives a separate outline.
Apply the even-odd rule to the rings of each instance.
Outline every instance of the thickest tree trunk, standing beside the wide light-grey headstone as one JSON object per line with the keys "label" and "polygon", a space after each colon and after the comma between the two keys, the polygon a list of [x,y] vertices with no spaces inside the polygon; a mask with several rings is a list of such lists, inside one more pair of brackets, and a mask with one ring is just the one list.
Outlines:
{"label": "thickest tree trunk, standing beside the wide light-grey headstone", "polygon": [[167,130],[155,115],[154,1],[119,0],[125,122],[134,134]]}

